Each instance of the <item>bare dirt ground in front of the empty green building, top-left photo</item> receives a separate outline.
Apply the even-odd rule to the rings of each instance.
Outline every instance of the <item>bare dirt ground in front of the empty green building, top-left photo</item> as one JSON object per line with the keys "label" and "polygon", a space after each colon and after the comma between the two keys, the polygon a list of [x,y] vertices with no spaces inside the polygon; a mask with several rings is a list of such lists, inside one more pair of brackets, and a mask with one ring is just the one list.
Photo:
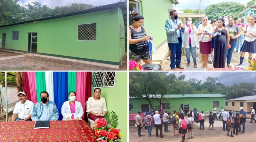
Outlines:
{"label": "bare dirt ground in front of the empty green building, top-left photo", "polygon": [[[17,54],[0,52],[0,57],[16,56]],[[119,70],[127,71],[127,53]],[[100,68],[75,65],[31,56],[0,61],[0,71],[102,71]]]}

